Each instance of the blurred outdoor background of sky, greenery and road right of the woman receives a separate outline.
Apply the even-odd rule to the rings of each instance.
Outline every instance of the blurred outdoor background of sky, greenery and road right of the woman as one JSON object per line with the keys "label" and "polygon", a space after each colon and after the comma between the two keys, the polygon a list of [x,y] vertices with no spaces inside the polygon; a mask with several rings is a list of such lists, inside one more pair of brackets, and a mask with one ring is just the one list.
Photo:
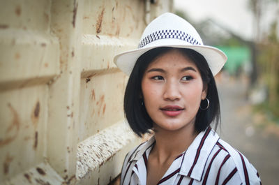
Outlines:
{"label": "blurred outdoor background of sky, greenery and road right of the woman", "polygon": [[278,184],[279,1],[180,1],[177,15],[227,54],[216,77],[220,136],[245,154],[263,184]]}

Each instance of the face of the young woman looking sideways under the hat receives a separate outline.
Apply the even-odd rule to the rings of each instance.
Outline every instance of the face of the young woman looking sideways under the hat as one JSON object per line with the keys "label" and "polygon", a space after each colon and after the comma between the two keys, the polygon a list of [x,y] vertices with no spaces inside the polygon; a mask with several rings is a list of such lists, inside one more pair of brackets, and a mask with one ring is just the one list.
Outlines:
{"label": "face of the young woman looking sideways under the hat", "polygon": [[206,90],[195,63],[179,50],[169,50],[146,68],[142,95],[155,130],[176,131],[195,128],[195,117],[200,101],[206,98]]}

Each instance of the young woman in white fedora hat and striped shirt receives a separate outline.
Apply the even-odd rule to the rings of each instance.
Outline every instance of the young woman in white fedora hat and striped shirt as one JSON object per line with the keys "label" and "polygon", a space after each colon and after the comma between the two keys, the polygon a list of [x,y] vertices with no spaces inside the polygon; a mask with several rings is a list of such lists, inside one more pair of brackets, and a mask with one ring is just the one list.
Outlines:
{"label": "young woman in white fedora hat and striped shirt", "polygon": [[139,136],[153,132],[127,154],[121,184],[261,184],[247,158],[211,128],[220,118],[213,76],[226,60],[172,13],[146,27],[137,50],[114,58],[130,75],[124,97],[130,127]]}

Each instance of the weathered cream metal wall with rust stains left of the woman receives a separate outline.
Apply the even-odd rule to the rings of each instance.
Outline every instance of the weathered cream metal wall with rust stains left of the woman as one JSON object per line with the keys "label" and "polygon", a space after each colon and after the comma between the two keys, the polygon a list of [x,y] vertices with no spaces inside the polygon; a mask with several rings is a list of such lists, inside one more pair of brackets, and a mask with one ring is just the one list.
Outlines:
{"label": "weathered cream metal wall with rust stains left of the woman", "polygon": [[114,54],[172,1],[0,1],[0,184],[108,184],[140,140]]}

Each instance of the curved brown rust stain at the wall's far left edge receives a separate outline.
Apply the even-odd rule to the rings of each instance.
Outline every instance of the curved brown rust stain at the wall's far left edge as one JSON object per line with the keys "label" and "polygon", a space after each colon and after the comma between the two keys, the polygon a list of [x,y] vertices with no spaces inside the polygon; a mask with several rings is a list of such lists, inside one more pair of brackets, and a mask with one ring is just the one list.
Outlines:
{"label": "curved brown rust stain at the wall's far left edge", "polygon": [[8,143],[15,140],[18,132],[20,131],[20,121],[19,121],[17,112],[12,107],[12,105],[10,105],[10,103],[8,103],[8,108],[10,109],[10,112],[12,112],[12,114],[13,114],[13,121],[12,121],[12,124],[10,124],[10,126],[7,128],[6,134],[10,133],[13,130],[15,130],[15,132],[13,135],[6,137],[6,139],[0,138],[0,147],[3,147],[4,145],[8,145]]}

